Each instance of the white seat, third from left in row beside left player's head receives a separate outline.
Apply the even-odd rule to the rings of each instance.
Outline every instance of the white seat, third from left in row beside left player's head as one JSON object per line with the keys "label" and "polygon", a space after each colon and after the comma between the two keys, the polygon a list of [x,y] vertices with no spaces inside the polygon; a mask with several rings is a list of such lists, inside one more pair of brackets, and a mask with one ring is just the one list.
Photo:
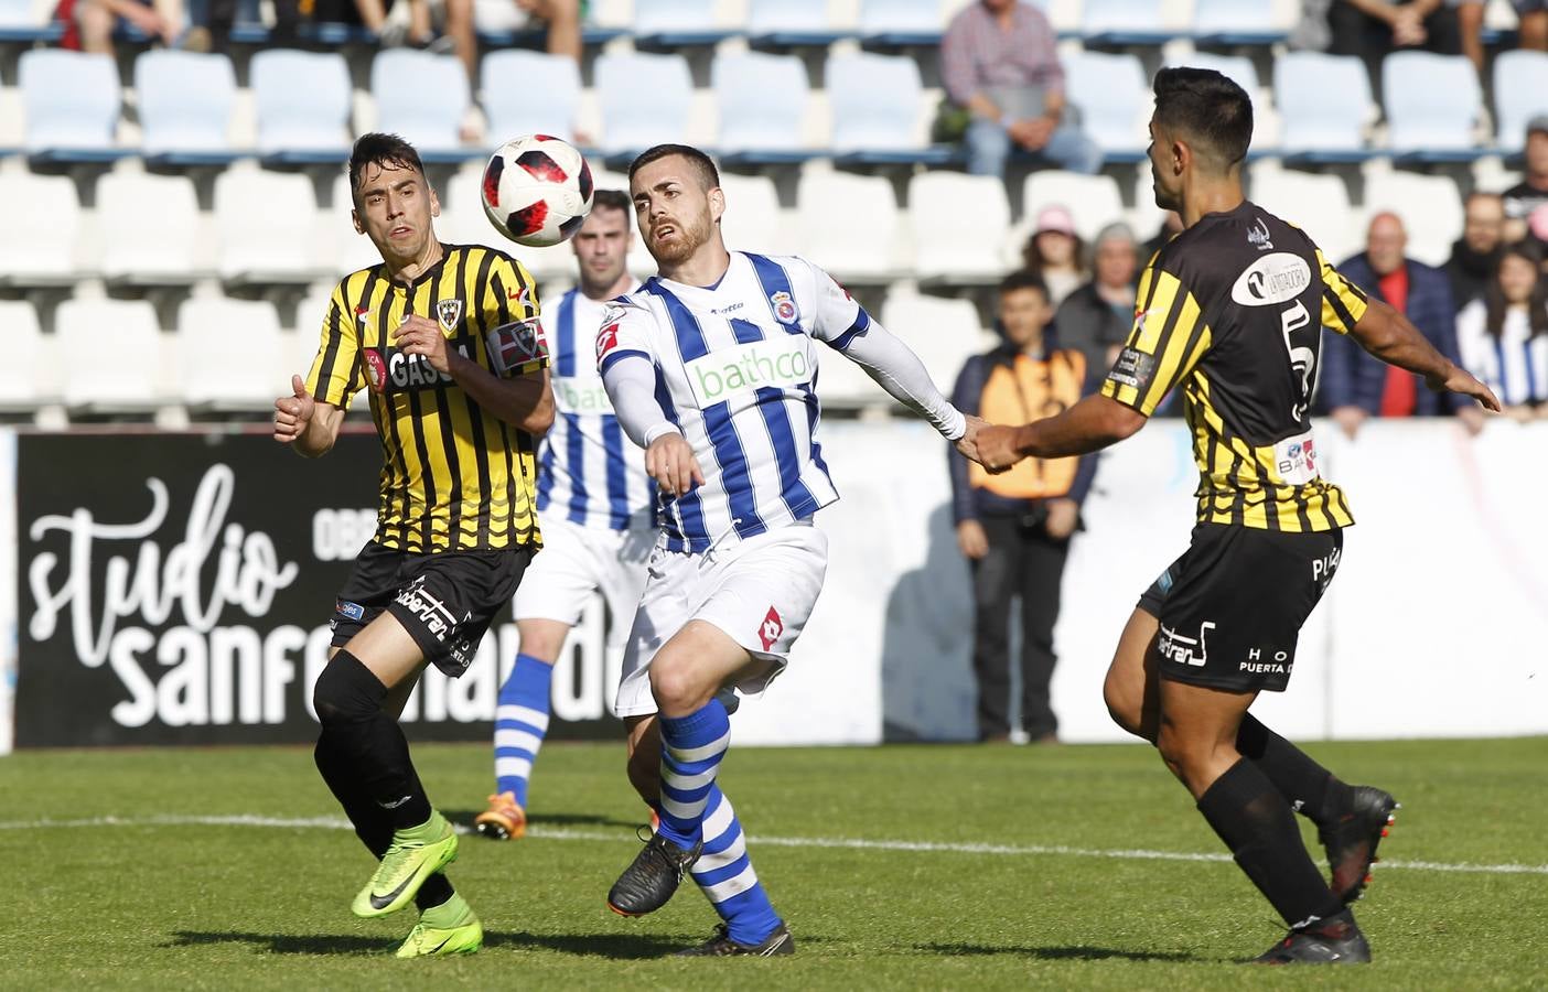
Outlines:
{"label": "white seat, third from left in row beside left player's head", "polygon": [[215,176],[215,271],[228,283],[308,283],[327,274],[313,257],[317,200],[296,172],[226,169]]}

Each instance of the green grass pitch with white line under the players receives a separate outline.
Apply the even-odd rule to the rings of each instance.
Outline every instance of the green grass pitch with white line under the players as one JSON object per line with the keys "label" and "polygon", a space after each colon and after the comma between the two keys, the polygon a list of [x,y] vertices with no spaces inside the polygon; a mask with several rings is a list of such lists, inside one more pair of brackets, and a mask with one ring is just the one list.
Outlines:
{"label": "green grass pitch with white line under the players", "polygon": [[[1548,987],[1548,738],[1308,749],[1404,805],[1358,904],[1370,967],[1240,967],[1282,924],[1141,746],[732,749],[721,785],[797,941],[751,961],[663,956],[714,929],[692,884],[605,908],[644,820],[621,744],[551,744],[529,836],[463,837],[450,877],[488,936],[437,961],[390,956],[412,910],[350,915],[372,864],[310,749],[23,752],[0,758],[0,987]],[[469,823],[488,747],[415,754]]]}

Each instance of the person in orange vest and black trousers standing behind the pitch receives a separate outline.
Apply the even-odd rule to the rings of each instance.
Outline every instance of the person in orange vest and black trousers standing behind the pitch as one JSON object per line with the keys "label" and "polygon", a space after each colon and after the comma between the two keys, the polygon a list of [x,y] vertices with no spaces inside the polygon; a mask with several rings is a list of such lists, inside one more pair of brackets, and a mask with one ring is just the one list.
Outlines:
{"label": "person in orange vest and black trousers standing behind the pitch", "polygon": [[[1026,422],[1074,405],[1085,388],[1085,359],[1051,347],[1043,331],[1053,316],[1048,289],[1031,272],[1000,283],[1003,342],[968,359],[952,402],[997,424]],[[1048,701],[1054,673],[1054,621],[1070,537],[1096,460],[1029,458],[991,475],[952,458],[952,515],[957,545],[972,566],[975,605],[974,675],[978,679],[978,737],[985,741],[1057,740]],[[1022,726],[1011,717],[1011,602],[1020,599]]]}

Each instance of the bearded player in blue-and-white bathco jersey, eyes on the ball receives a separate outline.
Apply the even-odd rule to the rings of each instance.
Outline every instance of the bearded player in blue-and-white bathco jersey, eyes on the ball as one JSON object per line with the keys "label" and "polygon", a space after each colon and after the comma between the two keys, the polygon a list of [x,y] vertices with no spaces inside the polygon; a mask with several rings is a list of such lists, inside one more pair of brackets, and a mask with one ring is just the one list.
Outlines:
{"label": "bearded player in blue-and-white bathco jersey, eyes on the ball", "polygon": [[596,354],[664,497],[618,690],[628,777],[661,825],[608,905],[650,913],[690,870],[724,924],[681,953],[791,953],[717,771],[732,689],[762,692],[785,669],[822,590],[827,539],[811,517],[839,494],[816,440],[816,345],[858,362],[969,458],[980,421],[827,272],[728,252],[726,198],[703,152],[656,145],[628,186],[659,274],[608,311]]}

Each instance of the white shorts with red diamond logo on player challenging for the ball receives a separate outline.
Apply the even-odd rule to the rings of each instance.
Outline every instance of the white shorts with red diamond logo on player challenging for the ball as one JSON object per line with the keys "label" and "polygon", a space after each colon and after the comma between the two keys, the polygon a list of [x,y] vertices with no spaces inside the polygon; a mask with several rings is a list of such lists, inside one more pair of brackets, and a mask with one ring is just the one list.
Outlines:
{"label": "white shorts with red diamond logo on player challenging for the ball", "polygon": [[[789,662],[789,648],[811,616],[827,571],[828,535],[811,520],[703,554],[667,551],[658,542],[624,650],[618,715],[656,712],[650,659],[689,621],[718,627],[754,658],[771,662],[734,686],[743,695],[763,692]],[[726,689],[723,701],[732,687]]]}

